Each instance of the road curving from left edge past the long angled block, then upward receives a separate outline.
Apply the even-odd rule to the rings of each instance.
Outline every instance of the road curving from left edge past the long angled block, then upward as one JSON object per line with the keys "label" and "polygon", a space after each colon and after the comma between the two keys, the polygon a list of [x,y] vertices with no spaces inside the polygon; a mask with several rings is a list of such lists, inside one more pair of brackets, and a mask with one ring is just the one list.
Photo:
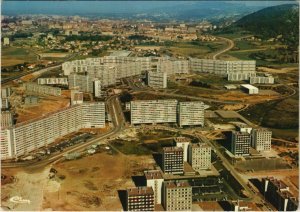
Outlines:
{"label": "road curving from left edge past the long angled block, then upward", "polygon": [[50,164],[57,160],[60,160],[67,153],[83,150],[86,147],[88,147],[94,143],[98,143],[101,141],[103,142],[104,139],[106,139],[106,138],[111,138],[113,136],[117,136],[118,133],[124,129],[124,124],[125,124],[125,119],[124,119],[124,116],[122,113],[122,109],[120,106],[118,96],[111,96],[107,99],[107,108],[108,108],[108,112],[110,113],[110,115],[112,117],[112,123],[114,125],[114,128],[111,131],[104,133],[104,134],[100,135],[99,137],[94,138],[90,141],[87,141],[83,144],[69,147],[69,148],[65,149],[65,151],[63,151],[63,152],[52,154],[49,157],[44,158],[41,161],[25,161],[25,162],[17,162],[17,163],[2,162],[2,164],[1,164],[2,168],[13,168],[13,167],[24,167],[24,166],[26,166],[26,167],[30,166],[30,167],[34,167],[34,168],[43,167],[47,164]]}

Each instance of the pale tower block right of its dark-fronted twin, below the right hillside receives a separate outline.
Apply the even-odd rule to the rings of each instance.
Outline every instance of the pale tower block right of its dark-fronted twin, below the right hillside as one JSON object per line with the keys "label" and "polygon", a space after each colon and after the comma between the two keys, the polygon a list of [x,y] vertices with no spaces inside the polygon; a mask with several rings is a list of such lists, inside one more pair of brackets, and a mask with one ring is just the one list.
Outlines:
{"label": "pale tower block right of its dark-fronted twin, below the right hillside", "polygon": [[251,146],[259,152],[271,151],[272,131],[252,129]]}

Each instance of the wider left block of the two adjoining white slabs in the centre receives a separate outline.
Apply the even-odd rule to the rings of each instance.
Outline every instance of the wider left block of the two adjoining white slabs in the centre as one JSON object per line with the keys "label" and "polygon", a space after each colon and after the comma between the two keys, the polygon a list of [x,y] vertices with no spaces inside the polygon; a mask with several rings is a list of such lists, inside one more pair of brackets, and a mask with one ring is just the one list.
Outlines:
{"label": "wider left block of the two adjoining white slabs in the centre", "polygon": [[177,100],[136,100],[130,102],[131,124],[176,123]]}

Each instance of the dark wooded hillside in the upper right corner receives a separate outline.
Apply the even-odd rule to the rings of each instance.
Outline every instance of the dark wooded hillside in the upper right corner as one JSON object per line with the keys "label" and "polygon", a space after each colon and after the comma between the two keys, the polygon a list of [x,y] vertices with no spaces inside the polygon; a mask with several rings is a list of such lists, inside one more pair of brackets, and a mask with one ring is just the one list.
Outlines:
{"label": "dark wooded hillside in the upper right corner", "polygon": [[299,44],[299,6],[284,4],[246,15],[232,27],[242,28],[264,39],[282,35],[282,41],[297,48]]}

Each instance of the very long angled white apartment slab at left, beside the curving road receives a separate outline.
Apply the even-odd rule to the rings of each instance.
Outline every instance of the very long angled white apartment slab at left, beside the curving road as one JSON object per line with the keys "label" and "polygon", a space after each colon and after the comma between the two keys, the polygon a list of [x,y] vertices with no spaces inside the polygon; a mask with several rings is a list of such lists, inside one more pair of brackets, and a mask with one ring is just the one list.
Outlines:
{"label": "very long angled white apartment slab at left, beside the curving road", "polygon": [[105,105],[103,102],[74,105],[6,128],[4,140],[1,142],[6,148],[12,146],[12,151],[7,151],[8,155],[1,155],[1,159],[26,155],[81,128],[104,126]]}

